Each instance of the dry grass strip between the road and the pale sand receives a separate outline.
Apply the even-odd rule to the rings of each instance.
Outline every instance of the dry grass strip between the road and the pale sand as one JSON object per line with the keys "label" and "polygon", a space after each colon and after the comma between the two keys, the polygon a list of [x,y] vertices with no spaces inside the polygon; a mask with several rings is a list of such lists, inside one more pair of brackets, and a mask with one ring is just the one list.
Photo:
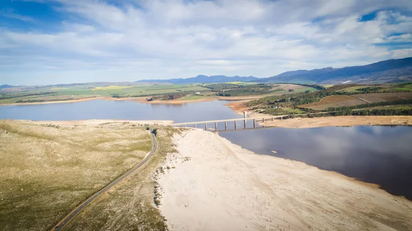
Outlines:
{"label": "dry grass strip between the road and the pale sand", "polygon": [[63,230],[167,230],[164,217],[154,203],[153,173],[174,152],[172,127],[157,130],[159,149],[135,175],[120,182],[73,219]]}

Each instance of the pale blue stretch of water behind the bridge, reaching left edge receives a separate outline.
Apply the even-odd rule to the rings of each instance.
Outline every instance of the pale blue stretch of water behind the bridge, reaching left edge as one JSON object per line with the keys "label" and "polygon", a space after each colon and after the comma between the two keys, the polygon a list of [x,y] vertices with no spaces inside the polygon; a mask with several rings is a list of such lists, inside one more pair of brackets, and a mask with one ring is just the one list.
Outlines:
{"label": "pale blue stretch of water behind the bridge, reaching left edge", "polygon": [[0,119],[72,121],[82,119],[173,120],[176,123],[242,118],[227,101],[192,104],[139,104],[135,101],[91,100],[65,104],[0,106]]}

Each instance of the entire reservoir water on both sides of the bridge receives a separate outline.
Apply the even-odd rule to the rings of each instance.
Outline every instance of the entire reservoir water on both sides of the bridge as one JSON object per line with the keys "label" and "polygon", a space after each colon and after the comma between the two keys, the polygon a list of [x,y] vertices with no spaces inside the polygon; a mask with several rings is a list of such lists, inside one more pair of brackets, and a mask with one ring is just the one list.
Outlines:
{"label": "entire reservoir water on both sides of the bridge", "polygon": [[[0,106],[0,119],[66,121],[83,119],[173,120],[179,122],[242,118],[227,101],[192,104],[141,104],[92,100],[64,104]],[[252,127],[251,121],[248,127]],[[214,128],[214,124],[208,124]],[[224,124],[218,124],[222,130]],[[238,124],[242,128],[242,123]],[[198,125],[200,127],[200,125]],[[233,124],[228,123],[228,129]],[[378,184],[412,200],[412,127],[356,126],[281,128],[220,132],[257,154],[305,162],[363,182]]]}

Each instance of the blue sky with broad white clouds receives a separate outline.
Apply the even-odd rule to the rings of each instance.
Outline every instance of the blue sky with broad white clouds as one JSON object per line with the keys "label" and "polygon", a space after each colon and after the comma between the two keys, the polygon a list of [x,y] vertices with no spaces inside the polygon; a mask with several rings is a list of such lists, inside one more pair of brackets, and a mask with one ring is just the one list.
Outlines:
{"label": "blue sky with broad white clouds", "polygon": [[0,85],[271,77],[411,56],[411,0],[0,0]]}

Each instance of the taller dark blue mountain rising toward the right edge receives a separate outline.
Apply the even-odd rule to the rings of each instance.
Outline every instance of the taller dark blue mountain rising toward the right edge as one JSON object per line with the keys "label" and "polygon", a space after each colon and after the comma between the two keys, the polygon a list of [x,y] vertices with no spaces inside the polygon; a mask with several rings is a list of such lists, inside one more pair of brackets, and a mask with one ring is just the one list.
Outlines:
{"label": "taller dark blue mountain rising toward the right edge", "polygon": [[350,81],[352,83],[366,84],[406,82],[410,80],[412,80],[412,57],[386,60],[365,66],[347,66],[338,69],[327,67],[310,71],[288,71],[273,77],[262,78],[257,82],[338,84]]}

